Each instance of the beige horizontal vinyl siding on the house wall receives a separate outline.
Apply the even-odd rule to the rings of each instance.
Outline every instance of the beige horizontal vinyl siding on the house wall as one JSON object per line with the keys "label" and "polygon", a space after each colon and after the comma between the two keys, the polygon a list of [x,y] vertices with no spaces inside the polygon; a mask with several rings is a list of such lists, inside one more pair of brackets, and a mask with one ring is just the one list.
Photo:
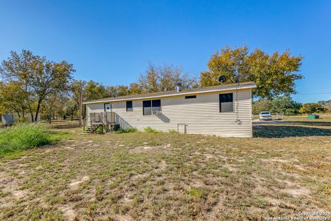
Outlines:
{"label": "beige horizontal vinyl siding on the house wall", "polygon": [[[221,93],[233,93],[234,112],[219,112]],[[116,113],[121,128],[143,130],[150,126],[159,131],[177,131],[177,124],[187,124],[186,133],[252,136],[251,89],[201,93],[192,99],[185,99],[184,95],[162,97],[162,115],[143,115],[143,100],[150,99],[133,100],[133,111],[128,112],[126,101],[112,102],[112,111]],[[88,113],[102,112],[103,104],[88,104],[87,109]],[[180,128],[183,131],[183,126]]]}

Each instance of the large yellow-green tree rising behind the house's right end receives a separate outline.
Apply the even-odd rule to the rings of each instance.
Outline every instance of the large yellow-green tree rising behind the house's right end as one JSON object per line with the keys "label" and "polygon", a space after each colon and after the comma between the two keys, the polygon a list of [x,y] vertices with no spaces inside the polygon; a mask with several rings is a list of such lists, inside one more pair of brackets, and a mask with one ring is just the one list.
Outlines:
{"label": "large yellow-green tree rising behind the house's right end", "polygon": [[241,74],[241,81],[257,83],[253,90],[255,97],[271,99],[282,94],[290,95],[296,93],[295,81],[303,78],[298,73],[302,59],[301,56],[291,56],[289,50],[269,55],[259,48],[249,52],[247,46],[234,49],[227,46],[210,57],[209,71],[201,73],[200,85],[217,85],[220,75],[227,77],[226,83],[232,83],[232,79]]}

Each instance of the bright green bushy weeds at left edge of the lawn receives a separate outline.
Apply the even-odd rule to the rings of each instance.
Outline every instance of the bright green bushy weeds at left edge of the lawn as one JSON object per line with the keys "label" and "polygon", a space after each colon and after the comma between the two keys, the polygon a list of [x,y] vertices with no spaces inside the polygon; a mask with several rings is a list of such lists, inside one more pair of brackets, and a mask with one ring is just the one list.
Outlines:
{"label": "bright green bushy weeds at left edge of the lawn", "polygon": [[52,142],[40,124],[17,124],[0,132],[0,156]]}

